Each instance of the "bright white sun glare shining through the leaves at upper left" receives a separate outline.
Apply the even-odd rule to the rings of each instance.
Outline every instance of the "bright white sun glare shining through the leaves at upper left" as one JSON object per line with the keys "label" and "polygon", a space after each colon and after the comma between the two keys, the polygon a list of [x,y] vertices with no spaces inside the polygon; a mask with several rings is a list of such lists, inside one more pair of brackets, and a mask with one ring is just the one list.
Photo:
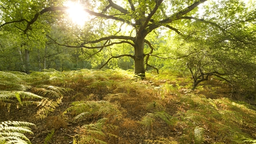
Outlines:
{"label": "bright white sun glare shining through the leaves at upper left", "polygon": [[69,18],[78,26],[84,26],[85,21],[89,20],[89,15],[83,10],[82,4],[68,1],[66,6],[69,7],[67,10]]}

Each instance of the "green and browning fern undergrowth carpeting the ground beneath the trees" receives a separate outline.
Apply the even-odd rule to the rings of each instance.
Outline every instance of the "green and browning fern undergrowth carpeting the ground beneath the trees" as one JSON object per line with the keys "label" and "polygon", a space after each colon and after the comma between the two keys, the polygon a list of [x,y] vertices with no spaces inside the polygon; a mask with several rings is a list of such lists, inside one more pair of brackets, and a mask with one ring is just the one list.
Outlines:
{"label": "green and browning fern undergrowth carpeting the ground beneath the trees", "polygon": [[[147,73],[146,80],[120,69],[0,74],[7,113],[36,108],[36,119],[65,125],[55,126],[45,143],[66,129],[73,143],[256,143],[255,106],[232,99],[218,81],[191,90],[191,78],[175,71]],[[49,117],[62,101],[65,110]]]}

